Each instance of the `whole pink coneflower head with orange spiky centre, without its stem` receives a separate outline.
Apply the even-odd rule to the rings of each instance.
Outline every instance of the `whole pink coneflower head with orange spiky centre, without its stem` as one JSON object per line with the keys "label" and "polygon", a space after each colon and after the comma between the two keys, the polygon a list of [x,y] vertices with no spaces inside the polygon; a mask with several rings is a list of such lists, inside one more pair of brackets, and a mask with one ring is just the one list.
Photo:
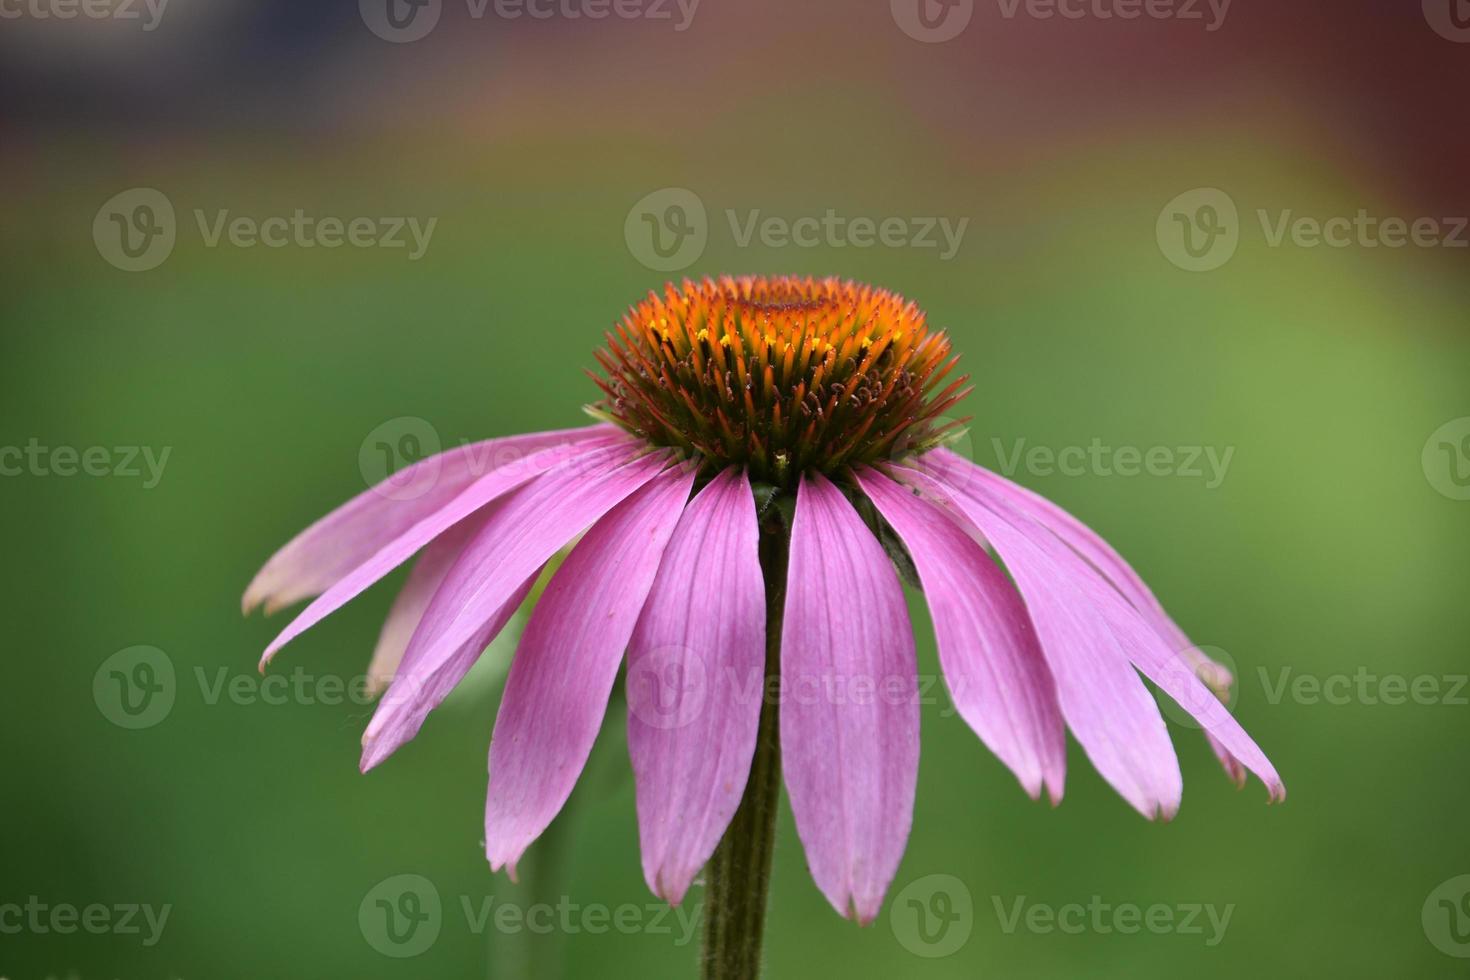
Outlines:
{"label": "whole pink coneflower head with orange spiky centre, without its stem", "polygon": [[244,599],[248,611],[316,597],[265,667],[419,555],[372,660],[387,693],[363,736],[368,770],[417,733],[570,545],[495,718],[494,868],[513,874],[566,802],[626,657],[648,886],[678,902],[710,860],[775,699],[811,876],[841,914],[870,921],[919,768],[900,567],[928,599],[958,714],[1032,798],[1060,801],[1070,729],[1133,808],[1175,814],[1179,763],[1144,677],[1200,721],[1232,777],[1250,770],[1285,795],[1220,701],[1229,673],[1129,564],[1057,505],[944,448],[966,381],[950,381],[957,359],[916,306],[836,279],[707,279],[650,294],[607,339],[592,407],[604,422],[419,461],[394,480],[422,492],[347,502],[270,558]]}

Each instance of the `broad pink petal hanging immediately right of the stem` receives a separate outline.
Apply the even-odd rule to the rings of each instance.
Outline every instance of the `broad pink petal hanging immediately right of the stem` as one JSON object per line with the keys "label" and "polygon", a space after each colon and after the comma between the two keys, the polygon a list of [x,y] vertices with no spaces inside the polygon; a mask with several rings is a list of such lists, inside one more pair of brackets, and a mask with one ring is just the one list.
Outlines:
{"label": "broad pink petal hanging immediately right of the stem", "polygon": [[913,821],[919,677],[903,586],[842,492],[803,478],[781,641],[781,760],[832,907],[870,923]]}

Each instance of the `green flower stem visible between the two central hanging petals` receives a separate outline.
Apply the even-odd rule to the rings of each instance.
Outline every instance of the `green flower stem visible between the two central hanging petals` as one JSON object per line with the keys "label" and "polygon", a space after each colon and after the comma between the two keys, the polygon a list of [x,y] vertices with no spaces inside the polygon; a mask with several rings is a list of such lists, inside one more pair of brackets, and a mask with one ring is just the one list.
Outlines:
{"label": "green flower stem visible between the two central hanging petals", "polygon": [[785,529],[767,525],[760,536],[760,567],[766,576],[766,683],[750,782],[735,818],[704,868],[704,980],[756,980],[766,927],[770,858],[781,802],[781,613],[786,599]]}

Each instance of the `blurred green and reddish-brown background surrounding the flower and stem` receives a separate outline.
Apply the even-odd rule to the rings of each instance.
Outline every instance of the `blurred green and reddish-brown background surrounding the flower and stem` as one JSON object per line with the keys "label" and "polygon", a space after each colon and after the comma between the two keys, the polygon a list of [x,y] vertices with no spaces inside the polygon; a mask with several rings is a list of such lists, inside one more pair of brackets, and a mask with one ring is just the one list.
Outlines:
{"label": "blurred green and reddish-brown background surrounding the flower and stem", "polygon": [[[1235,664],[1235,711],[1291,792],[1236,792],[1176,724],[1173,823],[1141,820],[1075,745],[1053,810],[936,689],[873,926],[831,911],[782,815],[770,976],[1466,976],[1470,232],[1452,219],[1470,213],[1470,10],[1102,16],[1123,7],[931,3],[926,28],[904,0],[703,0],[692,18],[650,0],[607,19],[444,0],[398,7],[398,29],[369,0],[7,6],[0,445],[37,448],[0,457],[0,976],[689,976],[700,890],[679,918],[644,887],[620,708],[510,884],[481,849],[510,648],[363,777],[370,705],[332,693],[365,670],[401,573],[293,644],[285,691],[254,670],[285,620],[241,620],[238,597],[295,530],[406,461],[379,444],[412,457],[576,425],[601,331],[666,278],[719,272],[917,300],[976,381],[980,463],[1167,447],[1161,475],[1119,475],[1117,457],[1011,473],[1104,532]],[[147,217],[135,188],[175,215],[172,248],[141,259],[109,217]],[[654,267],[642,215],[691,197],[692,244]],[[731,225],[828,209],[967,225],[951,256]],[[210,245],[196,219],[297,210],[437,223],[410,259]],[[1439,244],[1269,234],[1360,210],[1435,219]],[[65,475],[68,447],[104,448],[97,475]],[[1188,464],[1205,448],[1232,454],[1220,479]],[[138,657],[173,699],[125,727],[140,718],[109,671]],[[410,958],[372,926],[397,876],[441,904]],[[37,902],[169,917],[151,943],[141,914],[141,934],[60,934],[22,923]],[[494,918],[538,904],[572,911],[550,929]],[[1080,930],[1010,927],[1017,908],[1073,905]],[[1127,934],[1098,905],[1175,924]],[[631,926],[587,927],[619,909]]]}

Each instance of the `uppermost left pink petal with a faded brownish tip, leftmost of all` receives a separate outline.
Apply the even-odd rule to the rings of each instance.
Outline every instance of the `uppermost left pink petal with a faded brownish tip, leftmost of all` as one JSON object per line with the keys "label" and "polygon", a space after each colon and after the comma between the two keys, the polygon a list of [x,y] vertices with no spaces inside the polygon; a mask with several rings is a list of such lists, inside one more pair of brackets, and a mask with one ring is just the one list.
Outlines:
{"label": "uppermost left pink petal with a faded brownish tip, leftmost of all", "polygon": [[320,595],[373,557],[385,542],[441,510],[476,479],[553,445],[578,444],[613,433],[595,425],[485,439],[419,460],[378,483],[276,551],[245,589],[241,608],[265,602],[273,613]]}

